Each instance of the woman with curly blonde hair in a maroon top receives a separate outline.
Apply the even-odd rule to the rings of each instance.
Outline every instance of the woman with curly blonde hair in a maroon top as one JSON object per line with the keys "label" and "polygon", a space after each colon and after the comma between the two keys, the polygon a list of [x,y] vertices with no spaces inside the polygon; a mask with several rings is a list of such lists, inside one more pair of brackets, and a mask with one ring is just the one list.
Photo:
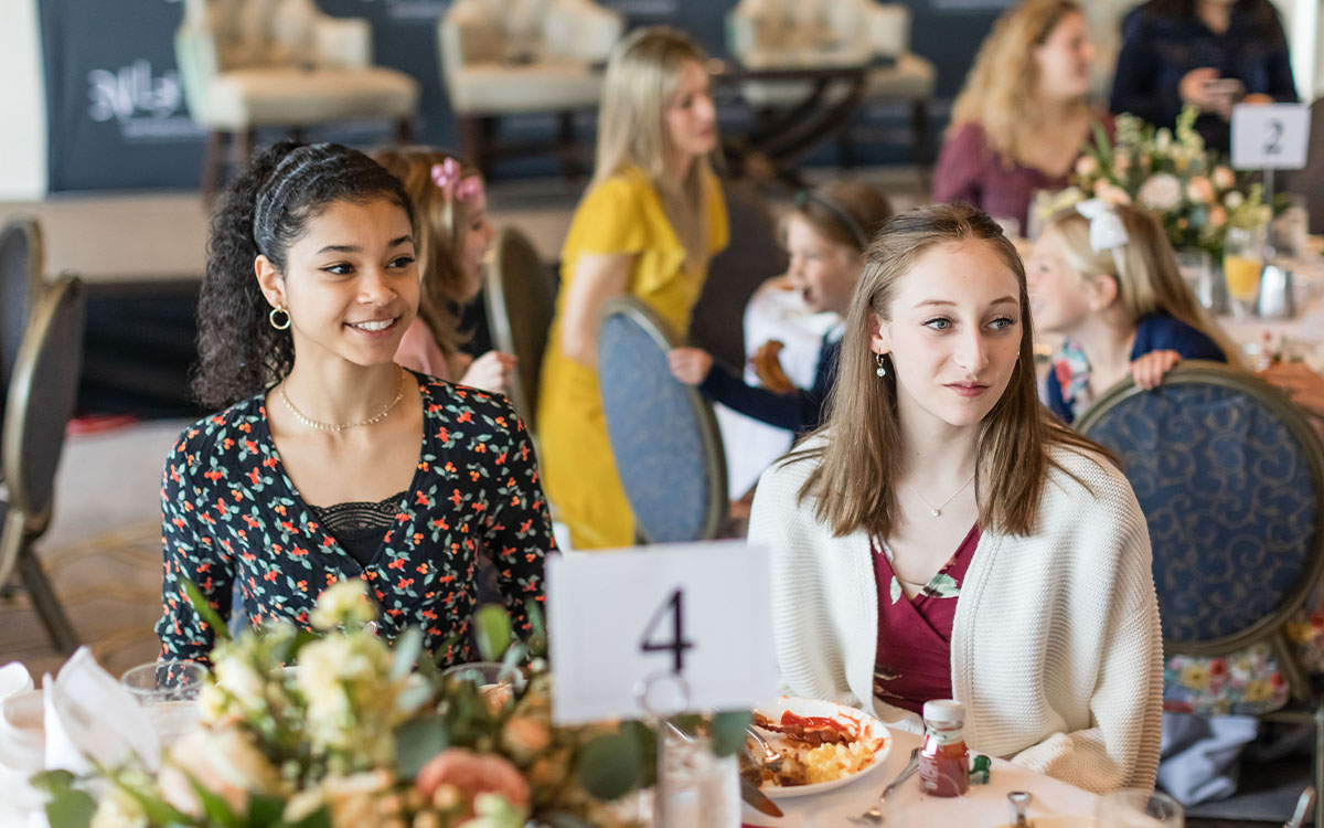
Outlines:
{"label": "woman with curly blonde hair in a maroon top", "polygon": [[1039,189],[1066,187],[1094,125],[1094,45],[1071,0],[1025,0],[998,17],[952,109],[933,200],[964,201],[1023,229]]}

